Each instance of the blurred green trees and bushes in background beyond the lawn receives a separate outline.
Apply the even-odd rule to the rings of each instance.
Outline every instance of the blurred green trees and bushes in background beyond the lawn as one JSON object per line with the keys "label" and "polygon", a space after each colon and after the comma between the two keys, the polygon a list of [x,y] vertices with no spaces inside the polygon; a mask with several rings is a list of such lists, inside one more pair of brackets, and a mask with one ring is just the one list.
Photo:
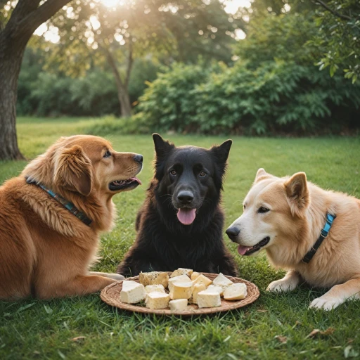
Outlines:
{"label": "blurred green trees and bushes in background beyond the lawn", "polygon": [[[157,47],[161,41],[148,48],[150,53],[138,51],[129,81],[135,115],[122,120],[116,119],[120,109],[115,79],[94,49],[83,68],[82,63],[68,66],[65,53],[56,56],[62,46],[70,53],[74,51],[69,48],[74,43],[69,40],[73,37],[71,20],[66,23],[61,46],[37,39],[34,49],[27,50],[20,74],[18,112],[45,116],[115,115],[89,129],[91,133],[109,129],[131,134],[357,133],[359,4],[354,0],[326,4],[338,15],[317,1],[254,0],[251,6],[239,8],[229,18],[224,11],[221,14],[219,6],[210,3],[207,11],[216,17],[217,27],[205,27],[209,22],[206,17],[199,20],[198,26],[189,28],[181,25],[184,18],[174,24],[166,20],[173,35],[179,35],[180,28],[188,30],[187,35],[173,38],[173,52]],[[59,25],[60,20],[53,23]],[[136,34],[143,36],[143,28],[133,26]],[[230,30],[239,27],[246,37],[235,41],[236,32]],[[198,28],[206,32],[197,33]],[[113,29],[101,37],[110,41],[110,30]],[[79,36],[85,33],[86,28]],[[220,47],[221,42],[226,46]],[[110,42],[109,46],[120,61],[120,72],[126,71],[116,45]],[[51,56],[44,53],[46,47]]]}

